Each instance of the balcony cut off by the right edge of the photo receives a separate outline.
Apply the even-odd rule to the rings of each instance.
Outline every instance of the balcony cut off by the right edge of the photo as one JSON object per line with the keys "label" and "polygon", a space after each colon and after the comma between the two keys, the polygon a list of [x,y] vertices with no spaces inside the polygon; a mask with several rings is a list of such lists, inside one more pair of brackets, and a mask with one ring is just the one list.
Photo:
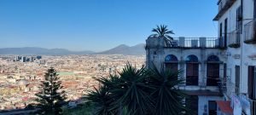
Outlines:
{"label": "balcony cut off by the right edge of the photo", "polygon": [[244,43],[256,43],[255,19],[244,26]]}

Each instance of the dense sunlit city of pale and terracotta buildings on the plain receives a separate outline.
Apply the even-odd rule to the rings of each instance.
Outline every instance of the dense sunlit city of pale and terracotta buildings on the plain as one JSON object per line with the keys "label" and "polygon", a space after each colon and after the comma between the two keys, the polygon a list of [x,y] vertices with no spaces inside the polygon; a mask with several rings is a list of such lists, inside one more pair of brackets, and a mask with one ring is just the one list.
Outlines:
{"label": "dense sunlit city of pale and terracotta buildings on the plain", "polygon": [[93,78],[118,74],[126,63],[145,64],[145,55],[1,55],[0,109],[24,108],[35,103],[38,84],[44,72],[55,67],[67,101],[79,100],[98,83]]}

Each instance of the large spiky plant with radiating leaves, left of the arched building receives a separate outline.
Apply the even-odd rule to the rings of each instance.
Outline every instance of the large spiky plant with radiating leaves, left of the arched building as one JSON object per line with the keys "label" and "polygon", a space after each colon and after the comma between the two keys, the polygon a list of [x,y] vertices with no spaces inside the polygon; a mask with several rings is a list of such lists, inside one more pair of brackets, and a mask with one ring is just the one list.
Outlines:
{"label": "large spiky plant with radiating leaves, left of the arched building", "polygon": [[149,96],[150,87],[145,81],[147,72],[145,67],[137,69],[127,64],[119,76],[110,75],[109,78],[96,78],[97,81],[108,87],[109,95],[114,100],[111,111],[120,112],[123,106],[129,112],[144,114],[153,106]]}

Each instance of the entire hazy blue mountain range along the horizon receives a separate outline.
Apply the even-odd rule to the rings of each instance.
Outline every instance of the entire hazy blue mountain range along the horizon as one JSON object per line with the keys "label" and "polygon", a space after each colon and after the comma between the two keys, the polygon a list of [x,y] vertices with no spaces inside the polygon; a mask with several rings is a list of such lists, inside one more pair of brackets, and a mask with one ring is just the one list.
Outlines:
{"label": "entire hazy blue mountain range along the horizon", "polygon": [[145,55],[144,44],[135,46],[127,46],[121,44],[113,49],[108,49],[102,52],[85,51],[70,51],[67,49],[44,49],[37,47],[25,48],[3,48],[0,49],[0,55]]}

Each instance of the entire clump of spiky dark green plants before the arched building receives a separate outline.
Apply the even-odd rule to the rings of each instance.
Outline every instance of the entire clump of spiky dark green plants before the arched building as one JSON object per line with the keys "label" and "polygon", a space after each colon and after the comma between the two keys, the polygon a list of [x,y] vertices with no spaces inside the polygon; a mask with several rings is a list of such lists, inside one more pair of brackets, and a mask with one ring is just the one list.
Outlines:
{"label": "entire clump of spiky dark green plants before the arched building", "polygon": [[119,75],[95,78],[102,84],[87,95],[96,114],[177,115],[187,112],[186,95],[176,86],[179,72],[159,72],[156,68],[140,69],[127,64]]}

